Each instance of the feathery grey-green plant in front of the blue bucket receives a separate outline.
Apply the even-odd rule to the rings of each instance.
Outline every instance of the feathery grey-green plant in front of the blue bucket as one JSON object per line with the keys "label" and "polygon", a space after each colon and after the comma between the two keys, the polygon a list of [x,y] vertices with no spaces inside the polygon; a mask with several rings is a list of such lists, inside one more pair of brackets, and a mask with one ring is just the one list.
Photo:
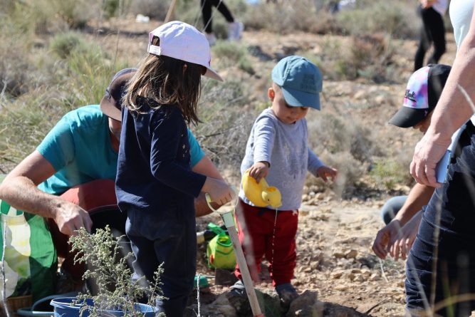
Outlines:
{"label": "feathery grey-green plant in front of the blue bucket", "polygon": [[[155,281],[147,283],[145,278],[132,281],[132,271],[127,265],[127,259],[132,253],[122,256],[118,240],[110,233],[109,227],[97,229],[95,234],[88,233],[84,228],[77,231],[77,235],[69,240],[75,255],[75,263],[86,263],[88,269],[83,279],[92,279],[98,286],[98,294],[80,293],[76,303],[85,303],[80,313],[88,311],[90,317],[103,316],[105,310],[120,310],[125,317],[142,316],[137,312],[137,301],[147,296],[148,304],[155,307],[157,299],[164,299],[160,289],[160,274],[162,266],[155,272]],[[121,239],[119,237],[118,239]],[[86,300],[93,301],[93,306]]]}

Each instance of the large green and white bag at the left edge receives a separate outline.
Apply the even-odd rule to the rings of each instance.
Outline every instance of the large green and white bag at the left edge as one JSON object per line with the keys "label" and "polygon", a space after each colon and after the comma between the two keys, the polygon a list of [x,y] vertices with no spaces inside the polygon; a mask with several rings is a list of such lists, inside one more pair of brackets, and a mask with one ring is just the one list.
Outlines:
{"label": "large green and white bag at the left edge", "polygon": [[58,256],[43,217],[16,210],[1,200],[0,215],[0,265],[5,269],[6,297],[31,295],[35,302],[55,293]]}

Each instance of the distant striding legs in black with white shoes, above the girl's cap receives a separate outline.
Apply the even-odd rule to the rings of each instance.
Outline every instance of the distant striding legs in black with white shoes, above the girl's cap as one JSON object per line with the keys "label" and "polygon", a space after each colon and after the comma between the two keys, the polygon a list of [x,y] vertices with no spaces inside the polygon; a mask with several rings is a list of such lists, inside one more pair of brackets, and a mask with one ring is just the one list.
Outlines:
{"label": "distant striding legs in black with white shoes, above the girl's cap", "polygon": [[244,30],[244,25],[239,21],[234,21],[231,11],[229,11],[223,0],[201,0],[201,4],[204,35],[206,36],[209,45],[214,45],[214,43],[216,43],[216,36],[213,32],[212,6],[215,6],[228,22],[228,40],[236,41],[241,38],[241,32]]}

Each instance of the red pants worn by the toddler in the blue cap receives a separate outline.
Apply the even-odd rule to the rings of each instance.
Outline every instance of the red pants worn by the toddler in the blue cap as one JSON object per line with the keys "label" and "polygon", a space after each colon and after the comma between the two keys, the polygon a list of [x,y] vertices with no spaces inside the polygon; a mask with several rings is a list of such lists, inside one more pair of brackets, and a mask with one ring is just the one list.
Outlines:
{"label": "red pants worn by the toddler in the blue cap", "polygon": [[[253,207],[239,199],[236,222],[252,279],[259,281],[261,261],[266,256],[272,285],[290,283],[297,258],[298,210],[278,211],[276,219],[276,210]],[[239,265],[234,274],[241,279]]]}

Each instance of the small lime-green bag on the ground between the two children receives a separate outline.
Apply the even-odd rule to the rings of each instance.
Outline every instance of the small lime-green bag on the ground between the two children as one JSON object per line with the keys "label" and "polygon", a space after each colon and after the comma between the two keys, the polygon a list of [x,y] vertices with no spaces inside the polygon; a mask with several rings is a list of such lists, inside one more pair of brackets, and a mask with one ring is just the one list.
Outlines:
{"label": "small lime-green bag on the ground between the two children", "polygon": [[236,255],[234,254],[231,238],[216,224],[209,223],[208,228],[216,234],[216,237],[208,242],[208,266],[214,269],[234,269],[236,267]]}

